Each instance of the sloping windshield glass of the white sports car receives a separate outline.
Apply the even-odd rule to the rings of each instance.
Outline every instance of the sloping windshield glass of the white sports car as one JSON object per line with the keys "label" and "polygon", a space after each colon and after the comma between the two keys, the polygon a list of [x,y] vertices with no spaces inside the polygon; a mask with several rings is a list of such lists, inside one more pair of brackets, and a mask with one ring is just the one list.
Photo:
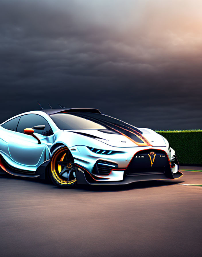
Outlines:
{"label": "sloping windshield glass of the white sports car", "polygon": [[59,129],[70,130],[70,129],[106,129],[106,127],[93,122],[91,120],[87,120],[85,118],[81,118],[75,115],[67,114],[67,113],[57,113],[51,114],[51,119],[55,122]]}

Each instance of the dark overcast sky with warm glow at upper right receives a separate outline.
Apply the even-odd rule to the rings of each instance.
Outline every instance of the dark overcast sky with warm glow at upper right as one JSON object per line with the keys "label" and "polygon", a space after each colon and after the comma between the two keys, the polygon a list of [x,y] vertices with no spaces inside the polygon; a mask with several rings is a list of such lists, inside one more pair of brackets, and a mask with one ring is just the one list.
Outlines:
{"label": "dark overcast sky with warm glow at upper right", "polygon": [[201,10],[200,0],[1,0],[0,122],[38,100],[202,129]]}

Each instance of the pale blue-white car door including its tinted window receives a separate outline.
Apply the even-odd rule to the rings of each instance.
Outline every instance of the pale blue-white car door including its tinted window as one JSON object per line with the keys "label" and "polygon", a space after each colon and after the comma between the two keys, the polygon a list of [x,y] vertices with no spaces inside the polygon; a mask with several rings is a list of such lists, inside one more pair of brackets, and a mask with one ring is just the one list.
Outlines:
{"label": "pale blue-white car door including its tinted window", "polygon": [[[38,144],[34,137],[24,134],[24,129],[37,125],[45,125],[43,130],[34,130],[41,144]],[[20,117],[17,131],[9,139],[8,149],[11,158],[18,163],[19,168],[35,166],[34,170],[36,170],[43,161],[49,158],[47,146],[52,145],[53,141],[53,132],[46,119],[38,114],[25,114]]]}

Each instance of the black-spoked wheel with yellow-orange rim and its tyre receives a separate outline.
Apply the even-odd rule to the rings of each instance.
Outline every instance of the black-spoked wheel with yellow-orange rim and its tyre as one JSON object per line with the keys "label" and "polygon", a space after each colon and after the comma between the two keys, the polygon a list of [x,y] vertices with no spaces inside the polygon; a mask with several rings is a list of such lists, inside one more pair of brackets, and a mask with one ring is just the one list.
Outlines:
{"label": "black-spoked wheel with yellow-orange rim and its tyre", "polygon": [[68,147],[61,145],[51,154],[50,178],[59,187],[71,187],[76,184],[75,163]]}

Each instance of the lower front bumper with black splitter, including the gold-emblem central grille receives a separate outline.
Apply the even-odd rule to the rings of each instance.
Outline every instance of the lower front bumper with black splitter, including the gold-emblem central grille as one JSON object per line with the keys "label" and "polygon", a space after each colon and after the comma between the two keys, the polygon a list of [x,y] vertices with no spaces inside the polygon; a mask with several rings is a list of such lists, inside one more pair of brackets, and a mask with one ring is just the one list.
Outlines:
{"label": "lower front bumper with black splitter, including the gold-emblem central grille", "polygon": [[[151,149],[137,152],[126,168],[112,168],[108,176],[93,174],[83,166],[76,164],[77,183],[123,185],[137,181],[176,179],[183,175],[179,172],[179,163],[175,155],[174,163],[170,163],[170,159],[165,151],[155,149],[154,154],[150,151]],[[149,154],[152,154],[152,157],[148,157],[147,155]]]}

